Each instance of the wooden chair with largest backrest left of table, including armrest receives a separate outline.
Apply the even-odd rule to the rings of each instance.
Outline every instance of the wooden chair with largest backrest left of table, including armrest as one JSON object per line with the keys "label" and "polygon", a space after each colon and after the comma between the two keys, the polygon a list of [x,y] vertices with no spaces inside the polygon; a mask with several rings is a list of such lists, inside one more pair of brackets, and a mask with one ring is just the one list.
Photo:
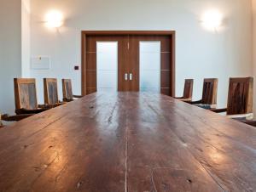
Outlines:
{"label": "wooden chair with largest backrest left of table, including armrest", "polygon": [[15,78],[16,114],[37,114],[50,107],[38,104],[35,79]]}

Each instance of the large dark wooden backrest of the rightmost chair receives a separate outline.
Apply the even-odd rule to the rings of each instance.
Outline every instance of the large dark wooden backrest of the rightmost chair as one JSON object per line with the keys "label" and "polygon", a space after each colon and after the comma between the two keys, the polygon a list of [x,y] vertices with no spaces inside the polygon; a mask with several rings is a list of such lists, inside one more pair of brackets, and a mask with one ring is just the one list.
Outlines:
{"label": "large dark wooden backrest of the rightmost chair", "polygon": [[230,78],[227,115],[253,113],[253,77]]}

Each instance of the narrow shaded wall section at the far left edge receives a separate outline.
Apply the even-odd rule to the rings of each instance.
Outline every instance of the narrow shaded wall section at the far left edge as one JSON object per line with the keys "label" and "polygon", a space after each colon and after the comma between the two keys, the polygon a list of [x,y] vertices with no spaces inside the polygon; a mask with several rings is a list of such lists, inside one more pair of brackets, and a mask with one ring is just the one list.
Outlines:
{"label": "narrow shaded wall section at the far left edge", "polygon": [[21,76],[21,3],[1,0],[0,112],[14,113],[14,77]]}

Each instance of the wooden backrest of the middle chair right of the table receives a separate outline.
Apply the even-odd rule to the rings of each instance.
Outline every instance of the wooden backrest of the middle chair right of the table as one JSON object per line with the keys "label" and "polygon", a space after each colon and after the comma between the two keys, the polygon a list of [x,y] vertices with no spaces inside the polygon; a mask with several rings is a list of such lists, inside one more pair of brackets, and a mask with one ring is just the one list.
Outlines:
{"label": "wooden backrest of the middle chair right of the table", "polygon": [[218,79],[204,79],[202,104],[217,104]]}

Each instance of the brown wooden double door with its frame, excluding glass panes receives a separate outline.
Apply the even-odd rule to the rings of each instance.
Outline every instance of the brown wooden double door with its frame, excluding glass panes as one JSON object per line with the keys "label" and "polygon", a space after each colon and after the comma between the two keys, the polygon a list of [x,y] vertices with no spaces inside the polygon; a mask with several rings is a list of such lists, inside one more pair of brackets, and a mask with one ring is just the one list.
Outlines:
{"label": "brown wooden double door with its frame, excluding glass panes", "polygon": [[173,31],[164,34],[121,34],[100,31],[82,33],[82,90],[84,95],[97,91],[97,43],[117,42],[118,69],[117,89],[120,92],[138,92],[140,86],[140,43],[159,42],[160,44],[160,88],[166,95],[174,93],[174,46]]}

